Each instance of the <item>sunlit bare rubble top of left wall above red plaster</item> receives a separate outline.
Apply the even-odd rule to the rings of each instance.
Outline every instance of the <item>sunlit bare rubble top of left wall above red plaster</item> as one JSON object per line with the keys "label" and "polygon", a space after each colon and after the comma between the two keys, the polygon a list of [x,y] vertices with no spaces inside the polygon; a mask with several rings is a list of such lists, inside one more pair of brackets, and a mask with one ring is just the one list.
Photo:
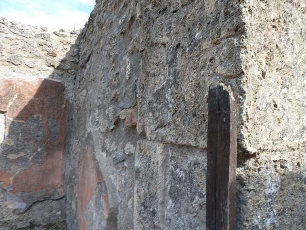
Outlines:
{"label": "sunlit bare rubble top of left wall above red plaster", "polygon": [[0,17],[0,77],[57,79],[65,83],[65,97],[71,99],[77,63],[72,62],[69,50],[77,55],[79,32],[48,31]]}

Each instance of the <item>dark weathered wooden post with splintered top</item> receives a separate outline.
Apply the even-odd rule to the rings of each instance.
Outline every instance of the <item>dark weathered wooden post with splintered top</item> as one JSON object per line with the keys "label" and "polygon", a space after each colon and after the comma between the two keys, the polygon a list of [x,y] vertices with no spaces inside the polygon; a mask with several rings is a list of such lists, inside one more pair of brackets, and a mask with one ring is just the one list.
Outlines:
{"label": "dark weathered wooden post with splintered top", "polygon": [[230,86],[211,86],[208,94],[207,230],[235,228],[236,121],[236,101]]}

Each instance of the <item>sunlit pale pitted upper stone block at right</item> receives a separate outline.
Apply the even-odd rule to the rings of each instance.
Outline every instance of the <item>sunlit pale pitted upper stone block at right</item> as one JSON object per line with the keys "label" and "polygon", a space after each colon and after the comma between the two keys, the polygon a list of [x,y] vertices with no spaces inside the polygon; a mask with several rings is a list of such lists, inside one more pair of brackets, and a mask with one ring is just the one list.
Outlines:
{"label": "sunlit pale pitted upper stone block at right", "polygon": [[[248,151],[306,143],[305,2],[246,1],[241,133]],[[260,39],[257,35],[260,33]]]}

